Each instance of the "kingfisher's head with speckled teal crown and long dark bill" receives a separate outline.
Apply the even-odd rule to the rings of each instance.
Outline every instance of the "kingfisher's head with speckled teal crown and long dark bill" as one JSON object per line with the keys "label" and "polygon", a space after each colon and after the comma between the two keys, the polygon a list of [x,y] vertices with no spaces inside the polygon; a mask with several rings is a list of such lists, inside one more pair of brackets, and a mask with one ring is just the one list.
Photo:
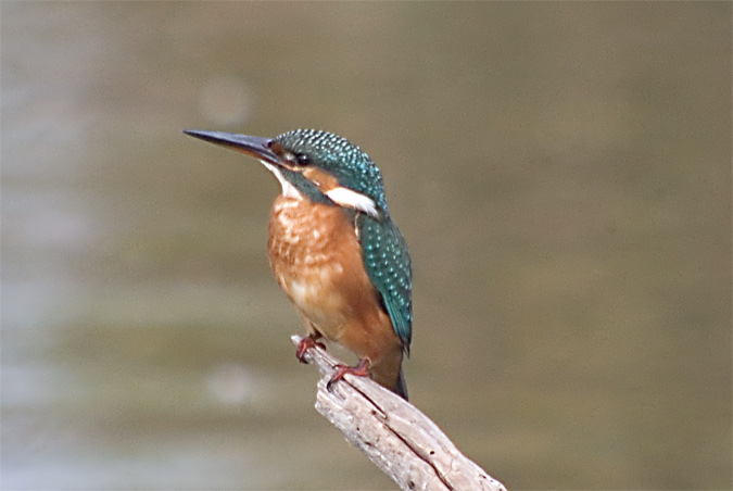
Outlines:
{"label": "kingfisher's head with speckled teal crown and long dark bill", "polygon": [[286,196],[332,203],[376,219],[388,216],[379,168],[345,138],[316,129],[295,129],[273,139],[194,129],[184,133],[258,159],[278,178]]}

